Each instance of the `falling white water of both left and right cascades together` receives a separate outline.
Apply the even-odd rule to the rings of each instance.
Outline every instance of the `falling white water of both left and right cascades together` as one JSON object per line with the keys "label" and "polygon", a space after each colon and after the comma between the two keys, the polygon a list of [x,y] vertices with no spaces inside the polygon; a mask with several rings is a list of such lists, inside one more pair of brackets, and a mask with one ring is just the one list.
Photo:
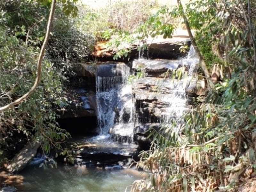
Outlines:
{"label": "falling white water of both left and right cascades together", "polygon": [[[143,59],[142,59],[143,60]],[[144,59],[145,60],[145,59]],[[156,63],[157,62],[157,63]],[[147,60],[147,65],[161,65],[161,60]],[[166,60],[164,60],[166,65]],[[182,123],[182,115],[187,110],[187,96],[185,88],[190,81],[198,63],[193,46],[190,47],[188,55],[179,60],[170,60],[166,66],[171,69],[177,66],[188,67],[188,77],[180,81],[174,80],[172,91],[163,94],[161,100],[167,103],[161,112],[161,118],[158,122],[170,125],[176,124],[176,129]],[[176,67],[175,67],[176,66]],[[96,77],[96,103],[98,128],[101,138],[110,137],[114,141],[132,142],[133,127],[135,120],[135,109],[132,97],[132,85],[127,84],[130,74],[130,68],[125,66],[121,68],[121,74],[115,76],[97,76]],[[138,119],[138,118],[137,118]],[[136,122],[140,124],[140,122]],[[150,115],[148,123],[151,123]]]}

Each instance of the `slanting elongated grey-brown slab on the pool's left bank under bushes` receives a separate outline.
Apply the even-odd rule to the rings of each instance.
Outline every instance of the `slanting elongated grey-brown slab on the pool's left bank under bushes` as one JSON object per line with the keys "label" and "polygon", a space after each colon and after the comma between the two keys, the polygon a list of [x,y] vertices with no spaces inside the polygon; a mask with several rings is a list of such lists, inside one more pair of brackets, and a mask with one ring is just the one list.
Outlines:
{"label": "slanting elongated grey-brown slab on the pool's left bank under bushes", "polygon": [[18,173],[24,169],[29,162],[36,156],[37,149],[40,147],[38,141],[29,143],[26,147],[14,156],[11,163],[6,166],[6,170],[12,173]]}

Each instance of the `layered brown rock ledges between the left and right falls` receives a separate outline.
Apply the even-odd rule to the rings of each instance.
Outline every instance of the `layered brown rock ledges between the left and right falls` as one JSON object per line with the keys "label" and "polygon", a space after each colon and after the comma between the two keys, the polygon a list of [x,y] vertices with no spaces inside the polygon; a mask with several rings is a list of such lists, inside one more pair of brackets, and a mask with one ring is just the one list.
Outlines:
{"label": "layered brown rock ledges between the left and right falls", "polygon": [[163,122],[170,111],[169,100],[177,86],[182,87],[183,82],[156,77],[145,77],[134,82],[132,91],[136,100],[137,121],[139,123]]}

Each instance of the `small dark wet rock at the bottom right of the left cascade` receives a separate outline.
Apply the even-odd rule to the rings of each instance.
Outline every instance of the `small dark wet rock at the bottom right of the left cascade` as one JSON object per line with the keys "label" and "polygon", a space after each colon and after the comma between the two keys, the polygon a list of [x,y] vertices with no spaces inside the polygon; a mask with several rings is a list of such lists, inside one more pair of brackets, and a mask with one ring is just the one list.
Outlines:
{"label": "small dark wet rock at the bottom right of the left cascade", "polygon": [[147,138],[152,129],[159,130],[161,128],[161,124],[159,123],[147,123],[140,124],[134,127],[134,142],[137,142],[140,149],[147,150],[150,146],[152,138]]}

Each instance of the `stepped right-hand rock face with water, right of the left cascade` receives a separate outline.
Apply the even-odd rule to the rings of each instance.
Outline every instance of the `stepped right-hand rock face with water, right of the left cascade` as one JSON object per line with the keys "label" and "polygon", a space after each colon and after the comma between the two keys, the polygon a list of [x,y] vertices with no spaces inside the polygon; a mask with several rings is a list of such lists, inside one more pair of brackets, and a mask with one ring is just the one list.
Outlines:
{"label": "stepped right-hand rock face with water, right of the left cascade", "polygon": [[197,94],[196,79],[171,79],[174,70],[193,72],[196,60],[186,57],[180,60],[133,60],[132,69],[143,72],[144,77],[132,83],[135,100],[137,126],[134,141],[141,149],[147,149],[152,141],[148,139],[150,130],[160,130],[163,124],[180,122],[182,114],[188,110],[191,97]]}

